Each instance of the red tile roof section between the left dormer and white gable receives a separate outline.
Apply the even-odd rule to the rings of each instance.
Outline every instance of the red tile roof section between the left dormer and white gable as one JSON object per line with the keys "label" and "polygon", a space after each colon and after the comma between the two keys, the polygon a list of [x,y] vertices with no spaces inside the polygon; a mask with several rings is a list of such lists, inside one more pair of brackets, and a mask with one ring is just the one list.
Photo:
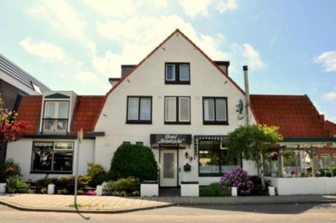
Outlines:
{"label": "red tile roof section between the left dormer and white gable", "polygon": [[78,96],[71,134],[77,134],[80,128],[83,128],[84,132],[94,131],[104,101],[104,96]]}

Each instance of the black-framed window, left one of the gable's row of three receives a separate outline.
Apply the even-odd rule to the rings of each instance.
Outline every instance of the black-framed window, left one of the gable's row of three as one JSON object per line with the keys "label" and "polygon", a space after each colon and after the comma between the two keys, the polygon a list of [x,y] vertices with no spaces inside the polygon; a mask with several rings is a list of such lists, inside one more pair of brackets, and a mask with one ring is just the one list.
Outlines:
{"label": "black-framed window, left one of the gable's row of three", "polygon": [[127,96],[127,121],[128,124],[152,123],[152,97]]}

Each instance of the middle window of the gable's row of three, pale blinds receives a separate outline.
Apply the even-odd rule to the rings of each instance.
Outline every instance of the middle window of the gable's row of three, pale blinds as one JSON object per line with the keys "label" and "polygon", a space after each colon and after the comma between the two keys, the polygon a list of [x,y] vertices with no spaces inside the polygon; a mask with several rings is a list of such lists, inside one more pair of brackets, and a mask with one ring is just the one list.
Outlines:
{"label": "middle window of the gable's row of three, pale blinds", "polygon": [[165,124],[190,124],[190,96],[165,96]]}

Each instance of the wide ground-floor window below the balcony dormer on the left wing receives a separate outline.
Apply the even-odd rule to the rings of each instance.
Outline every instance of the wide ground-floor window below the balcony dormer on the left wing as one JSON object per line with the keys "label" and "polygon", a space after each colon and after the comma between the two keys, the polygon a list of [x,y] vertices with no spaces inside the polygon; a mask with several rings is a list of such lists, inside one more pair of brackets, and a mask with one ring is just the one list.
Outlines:
{"label": "wide ground-floor window below the balcony dormer on the left wing", "polygon": [[72,173],[72,142],[33,142],[31,173]]}

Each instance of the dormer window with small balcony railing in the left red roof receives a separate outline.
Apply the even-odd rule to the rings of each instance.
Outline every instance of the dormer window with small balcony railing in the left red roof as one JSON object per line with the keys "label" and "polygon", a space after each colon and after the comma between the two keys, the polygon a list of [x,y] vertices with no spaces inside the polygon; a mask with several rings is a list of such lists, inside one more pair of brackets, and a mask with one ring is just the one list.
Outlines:
{"label": "dormer window with small balcony railing in the left red roof", "polygon": [[43,134],[66,134],[69,122],[69,101],[45,101]]}

